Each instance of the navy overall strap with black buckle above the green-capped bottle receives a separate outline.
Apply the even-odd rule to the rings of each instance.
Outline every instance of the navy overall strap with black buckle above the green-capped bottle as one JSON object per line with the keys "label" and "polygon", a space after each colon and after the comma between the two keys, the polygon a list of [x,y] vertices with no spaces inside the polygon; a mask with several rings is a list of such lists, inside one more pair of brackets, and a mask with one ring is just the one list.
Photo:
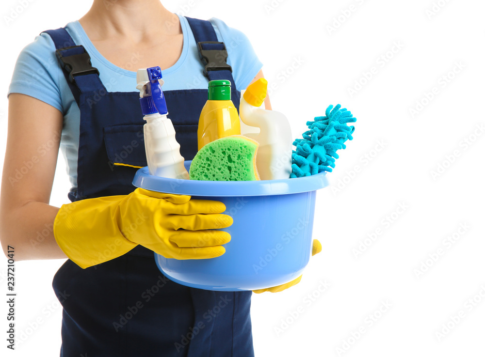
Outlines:
{"label": "navy overall strap with black buckle above the green-capped bottle", "polygon": [[199,57],[205,64],[204,75],[209,80],[230,80],[232,88],[236,90],[236,83],[232,77],[232,68],[227,64],[226,46],[224,42],[217,40],[217,35],[210,21],[187,16],[185,18],[194,33]]}

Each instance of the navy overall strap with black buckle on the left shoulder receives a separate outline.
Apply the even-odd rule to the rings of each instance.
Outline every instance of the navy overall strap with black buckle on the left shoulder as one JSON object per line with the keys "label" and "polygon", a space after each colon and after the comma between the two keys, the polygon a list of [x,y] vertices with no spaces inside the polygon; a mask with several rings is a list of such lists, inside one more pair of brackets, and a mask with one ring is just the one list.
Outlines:
{"label": "navy overall strap with black buckle on the left shoulder", "polygon": [[91,57],[83,46],[76,46],[74,40],[65,30],[47,30],[54,42],[56,56],[63,69],[65,79],[76,100],[80,104],[81,93],[93,94],[106,92],[106,88],[99,79],[99,71],[91,65]]}

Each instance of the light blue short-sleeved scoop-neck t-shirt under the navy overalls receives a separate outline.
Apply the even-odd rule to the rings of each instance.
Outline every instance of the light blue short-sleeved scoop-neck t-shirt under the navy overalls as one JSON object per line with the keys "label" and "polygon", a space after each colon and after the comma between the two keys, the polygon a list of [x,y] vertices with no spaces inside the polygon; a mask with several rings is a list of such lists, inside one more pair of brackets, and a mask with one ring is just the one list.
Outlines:
{"label": "light blue short-sleeved scoop-neck t-shirt under the navy overalls", "polygon": [[[183,16],[178,16],[183,32],[182,54],[178,61],[162,71],[164,91],[177,89],[207,89],[209,80],[203,75],[194,35]],[[239,30],[230,28],[224,21],[211,18],[217,39],[225,43],[227,62],[232,66],[236,88],[245,89],[258,74],[262,63],[256,56],[248,38]],[[91,57],[93,67],[109,92],[136,92],[137,62],[141,54],[134,53],[123,69],[106,60],[93,46],[78,21],[69,22],[66,31],[76,45],[82,45]],[[8,94],[22,93],[37,98],[59,109],[64,114],[60,150],[66,162],[66,171],[72,185],[77,188],[80,111],[67,85],[55,55],[55,46],[47,33],[42,33],[20,52]]]}

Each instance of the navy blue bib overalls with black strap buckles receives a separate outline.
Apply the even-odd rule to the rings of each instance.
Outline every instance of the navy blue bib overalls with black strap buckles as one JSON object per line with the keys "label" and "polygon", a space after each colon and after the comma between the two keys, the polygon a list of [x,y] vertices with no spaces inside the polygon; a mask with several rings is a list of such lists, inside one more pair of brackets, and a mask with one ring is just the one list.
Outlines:
{"label": "navy blue bib overalls with black strap buckles", "polygon": [[[225,46],[208,21],[188,18],[209,80],[229,79],[239,108]],[[108,92],[64,28],[47,32],[81,111],[78,187],[71,201],[126,195],[137,167],[146,166],[139,92]],[[202,62],[201,62],[202,64]],[[136,84],[133,83],[133,87]],[[164,92],[180,153],[197,152],[197,125],[206,89]],[[104,252],[109,256],[109,249]],[[63,306],[63,357],[254,356],[249,315],[251,292],[214,292],[167,279],[153,252],[137,246],[129,253],[81,269],[71,260],[52,286]]]}

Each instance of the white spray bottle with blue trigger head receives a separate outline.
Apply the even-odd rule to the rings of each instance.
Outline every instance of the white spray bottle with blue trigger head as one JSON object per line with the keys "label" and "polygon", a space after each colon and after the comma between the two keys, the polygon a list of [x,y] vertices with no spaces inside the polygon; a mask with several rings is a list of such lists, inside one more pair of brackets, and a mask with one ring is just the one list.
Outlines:
{"label": "white spray bottle with blue trigger head", "polygon": [[160,67],[142,68],[136,72],[136,88],[140,90],[145,140],[146,162],[150,175],[189,179],[180,155],[180,144],[175,139],[172,121],[167,118],[168,110],[162,92],[162,71]]}

